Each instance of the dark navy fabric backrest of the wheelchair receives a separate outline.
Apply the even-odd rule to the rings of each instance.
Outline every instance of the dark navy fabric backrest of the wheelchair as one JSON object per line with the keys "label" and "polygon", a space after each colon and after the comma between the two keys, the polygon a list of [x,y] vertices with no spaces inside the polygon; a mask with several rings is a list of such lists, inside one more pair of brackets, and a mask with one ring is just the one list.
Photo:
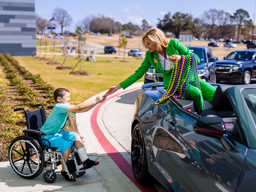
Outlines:
{"label": "dark navy fabric backrest of the wheelchair", "polygon": [[46,121],[45,109],[40,108],[33,111],[26,111],[27,128],[32,130],[40,130]]}

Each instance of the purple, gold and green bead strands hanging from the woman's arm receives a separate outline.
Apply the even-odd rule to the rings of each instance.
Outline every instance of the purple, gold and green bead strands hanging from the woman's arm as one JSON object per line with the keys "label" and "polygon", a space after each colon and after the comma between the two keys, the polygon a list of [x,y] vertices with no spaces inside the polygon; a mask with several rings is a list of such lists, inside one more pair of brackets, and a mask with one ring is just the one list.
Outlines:
{"label": "purple, gold and green bead strands hanging from the woman's arm", "polygon": [[[164,95],[156,101],[156,105],[164,103],[169,97],[172,98],[190,98],[190,93],[186,92],[187,87],[191,86],[192,77],[194,77],[194,87],[200,88],[199,78],[196,66],[196,57],[194,55],[180,55],[181,60],[175,62],[172,69],[171,80]],[[177,56],[174,56],[177,59]],[[189,89],[188,89],[189,90]],[[205,108],[205,107],[204,107]]]}

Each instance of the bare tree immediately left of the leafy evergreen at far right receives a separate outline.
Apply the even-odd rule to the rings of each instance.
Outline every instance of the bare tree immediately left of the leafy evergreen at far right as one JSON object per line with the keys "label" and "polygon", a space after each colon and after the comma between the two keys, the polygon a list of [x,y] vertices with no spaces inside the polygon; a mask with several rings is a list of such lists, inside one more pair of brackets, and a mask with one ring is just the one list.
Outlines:
{"label": "bare tree immediately left of the leafy evergreen at far right", "polygon": [[218,11],[217,25],[219,26],[221,36],[229,34],[232,30],[234,30],[231,25],[233,21],[231,20],[231,15],[224,10]]}

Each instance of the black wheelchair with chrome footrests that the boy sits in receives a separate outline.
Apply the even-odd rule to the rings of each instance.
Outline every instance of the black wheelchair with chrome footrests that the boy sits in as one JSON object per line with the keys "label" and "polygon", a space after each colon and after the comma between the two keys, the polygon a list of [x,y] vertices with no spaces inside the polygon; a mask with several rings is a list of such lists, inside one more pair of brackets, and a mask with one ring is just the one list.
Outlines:
{"label": "black wheelchair with chrome footrests that the boy sits in", "polygon": [[[16,108],[14,111],[23,110],[27,129],[23,130],[25,135],[12,140],[8,155],[9,161],[14,172],[25,179],[34,179],[38,177],[44,168],[50,167],[52,170],[44,172],[44,181],[53,183],[56,180],[57,166],[64,162],[66,172],[70,179],[79,178],[84,175],[83,164],[75,150],[71,148],[70,159],[65,162],[62,153],[57,148],[51,148],[49,140],[41,138],[40,128],[46,121],[45,108],[42,104],[33,105],[40,107],[32,111],[26,111],[24,108]],[[48,142],[49,147],[41,146],[41,141]]]}

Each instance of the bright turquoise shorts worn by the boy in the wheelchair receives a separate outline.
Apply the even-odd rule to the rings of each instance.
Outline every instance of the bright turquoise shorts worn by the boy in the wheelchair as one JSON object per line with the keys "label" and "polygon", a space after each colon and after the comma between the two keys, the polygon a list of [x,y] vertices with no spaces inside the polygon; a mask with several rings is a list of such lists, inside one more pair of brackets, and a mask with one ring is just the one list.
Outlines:
{"label": "bright turquoise shorts worn by the boy in the wheelchair", "polygon": [[[69,147],[74,147],[74,141],[77,135],[79,135],[79,133],[62,130],[54,135],[42,135],[41,138],[48,139],[51,148],[57,148],[61,153],[64,153]],[[49,147],[48,142],[42,140],[42,146]]]}

